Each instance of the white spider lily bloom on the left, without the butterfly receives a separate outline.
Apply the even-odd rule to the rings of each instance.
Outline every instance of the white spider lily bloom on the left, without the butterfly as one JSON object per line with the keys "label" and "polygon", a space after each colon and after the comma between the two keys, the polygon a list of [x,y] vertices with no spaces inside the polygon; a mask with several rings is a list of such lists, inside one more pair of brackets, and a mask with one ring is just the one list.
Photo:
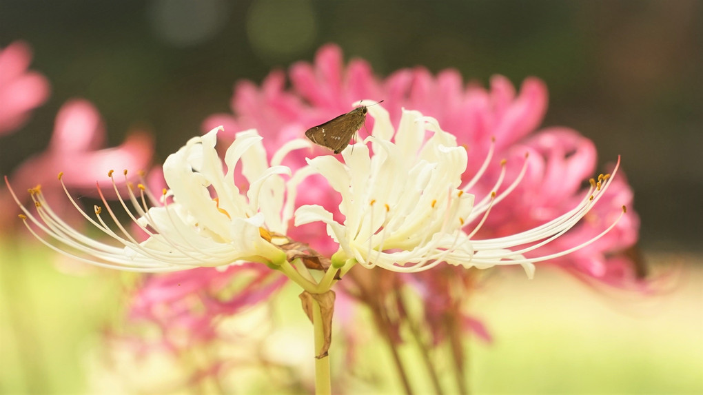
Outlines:
{"label": "white spider lily bloom on the left, without the butterfly", "polygon": [[[80,209],[64,186],[76,209],[93,226],[120,242],[117,247],[92,240],[66,224],[51,210],[39,188],[30,190],[36,214],[20,204],[13,190],[11,193],[25,213],[22,215],[25,225],[41,242],[90,264],[146,272],[222,266],[241,261],[280,264],[285,261],[285,252],[271,242],[271,234],[285,234],[292,216],[291,200],[295,199],[296,186],[296,182],[284,180],[282,175],[290,176],[291,171],[280,166],[280,161],[290,150],[307,147],[309,143],[299,139],[284,145],[273,155],[269,166],[262,137],[255,130],[243,131],[226,151],[224,169],[215,150],[219,130],[221,127],[191,138],[178,152],[169,155],[163,165],[169,189],[163,190],[160,199],[140,183],[138,195],[129,188],[130,209],[117,193],[122,208],[134,224],[148,234],[143,242],[137,242],[120,223],[104,197],[104,206],[95,207],[96,219],[93,219]],[[234,183],[238,163],[249,183],[246,193]],[[108,174],[110,179],[112,173]],[[126,170],[124,175],[127,176]],[[59,174],[59,179],[62,176]],[[112,186],[117,192],[114,179]],[[147,201],[154,207],[148,208]],[[101,214],[104,211],[115,221],[117,231],[105,224],[104,214]],[[48,237],[42,237],[35,228]]]}

